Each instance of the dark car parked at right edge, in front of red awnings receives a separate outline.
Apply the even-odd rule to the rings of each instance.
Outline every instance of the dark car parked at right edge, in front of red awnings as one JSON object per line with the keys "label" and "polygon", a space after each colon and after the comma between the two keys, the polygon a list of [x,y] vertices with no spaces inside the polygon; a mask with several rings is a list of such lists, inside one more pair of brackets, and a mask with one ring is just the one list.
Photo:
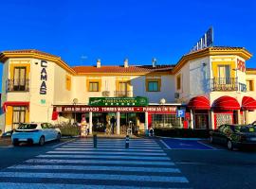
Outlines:
{"label": "dark car parked at right edge, in front of red awnings", "polygon": [[256,147],[256,126],[247,125],[221,125],[218,129],[210,131],[210,143],[234,147]]}

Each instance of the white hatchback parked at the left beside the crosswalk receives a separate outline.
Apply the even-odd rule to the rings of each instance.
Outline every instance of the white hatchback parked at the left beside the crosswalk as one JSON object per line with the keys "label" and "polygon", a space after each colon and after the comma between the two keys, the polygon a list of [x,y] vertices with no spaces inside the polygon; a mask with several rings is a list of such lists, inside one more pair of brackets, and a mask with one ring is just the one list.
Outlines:
{"label": "white hatchback parked at the left beside the crosswalk", "polygon": [[44,146],[45,142],[61,140],[61,130],[54,128],[50,123],[22,123],[11,135],[13,146],[20,143],[38,144]]}

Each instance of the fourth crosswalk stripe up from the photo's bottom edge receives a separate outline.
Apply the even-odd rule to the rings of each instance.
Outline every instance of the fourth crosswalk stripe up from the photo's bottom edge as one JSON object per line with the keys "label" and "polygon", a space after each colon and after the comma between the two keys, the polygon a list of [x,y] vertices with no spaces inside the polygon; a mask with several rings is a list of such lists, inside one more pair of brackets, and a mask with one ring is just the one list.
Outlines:
{"label": "fourth crosswalk stripe up from the photo's bottom edge", "polygon": [[117,161],[117,160],[60,160],[60,159],[29,159],[26,163],[98,163],[98,164],[151,164],[151,165],[174,165],[168,162],[145,162],[145,161]]}

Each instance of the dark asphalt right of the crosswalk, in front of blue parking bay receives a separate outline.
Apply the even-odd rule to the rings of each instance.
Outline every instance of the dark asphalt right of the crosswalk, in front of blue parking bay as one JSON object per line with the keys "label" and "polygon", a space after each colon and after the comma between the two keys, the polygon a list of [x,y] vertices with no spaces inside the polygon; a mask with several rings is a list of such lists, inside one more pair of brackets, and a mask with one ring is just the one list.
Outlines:
{"label": "dark asphalt right of the crosswalk, in front of blue parking bay", "polygon": [[[159,143],[160,144],[160,143]],[[209,142],[204,142],[207,146]],[[224,146],[215,149],[167,149],[165,152],[199,189],[255,189],[256,151],[229,151]]]}

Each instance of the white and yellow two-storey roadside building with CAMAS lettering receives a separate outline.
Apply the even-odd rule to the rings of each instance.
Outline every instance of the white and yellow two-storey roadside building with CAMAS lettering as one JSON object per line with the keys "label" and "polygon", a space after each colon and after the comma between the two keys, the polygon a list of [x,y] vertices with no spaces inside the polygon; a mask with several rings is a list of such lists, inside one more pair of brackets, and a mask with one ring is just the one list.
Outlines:
{"label": "white and yellow two-storey roadside building with CAMAS lettering", "polygon": [[[175,65],[70,67],[38,50],[4,51],[2,130],[20,122],[86,122],[104,131],[116,119],[116,133],[129,127],[216,129],[250,123],[256,117],[256,69],[241,47],[208,47],[184,55]],[[178,116],[179,112],[180,116]]]}

